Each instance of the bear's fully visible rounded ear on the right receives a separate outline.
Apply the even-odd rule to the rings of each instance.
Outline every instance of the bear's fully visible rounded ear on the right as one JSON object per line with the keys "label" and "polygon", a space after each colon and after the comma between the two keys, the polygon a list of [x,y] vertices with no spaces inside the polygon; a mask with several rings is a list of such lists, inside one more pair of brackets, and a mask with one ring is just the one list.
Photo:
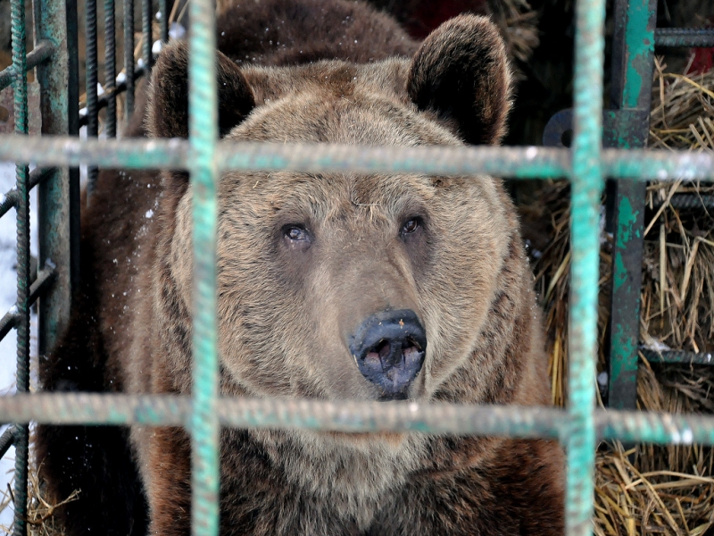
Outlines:
{"label": "bear's fully visible rounded ear on the right", "polygon": [[498,144],[511,109],[511,67],[494,23],[461,15],[431,32],[411,61],[407,92],[467,143]]}

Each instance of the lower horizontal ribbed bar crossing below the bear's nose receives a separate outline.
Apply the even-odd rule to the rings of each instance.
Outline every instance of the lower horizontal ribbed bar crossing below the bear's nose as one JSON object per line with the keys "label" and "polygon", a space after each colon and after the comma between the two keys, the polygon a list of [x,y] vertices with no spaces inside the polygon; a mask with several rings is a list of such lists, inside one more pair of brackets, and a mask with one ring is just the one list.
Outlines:
{"label": "lower horizontal ribbed bar crossing below the bear's nose", "polygon": [[[0,423],[181,426],[187,423],[191,404],[189,397],[168,395],[20,394],[0,397]],[[421,431],[550,439],[563,439],[569,433],[568,413],[552,407],[220,398],[218,414],[221,425],[234,428]],[[714,416],[598,410],[595,423],[602,440],[714,445]]]}

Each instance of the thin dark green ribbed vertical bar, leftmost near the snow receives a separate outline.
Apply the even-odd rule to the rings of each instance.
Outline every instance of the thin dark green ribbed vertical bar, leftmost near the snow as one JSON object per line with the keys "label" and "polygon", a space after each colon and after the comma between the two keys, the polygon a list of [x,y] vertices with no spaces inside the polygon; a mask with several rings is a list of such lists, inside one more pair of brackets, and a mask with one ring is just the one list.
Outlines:
{"label": "thin dark green ribbed vertical bar, leftmost near the snow", "polygon": [[[14,92],[15,134],[28,134],[28,77],[25,52],[25,3],[11,2],[12,24],[12,90]],[[16,168],[17,197],[17,390],[29,391],[29,170],[26,163]],[[15,519],[14,536],[27,532],[28,442],[27,423],[18,426],[15,439]]]}

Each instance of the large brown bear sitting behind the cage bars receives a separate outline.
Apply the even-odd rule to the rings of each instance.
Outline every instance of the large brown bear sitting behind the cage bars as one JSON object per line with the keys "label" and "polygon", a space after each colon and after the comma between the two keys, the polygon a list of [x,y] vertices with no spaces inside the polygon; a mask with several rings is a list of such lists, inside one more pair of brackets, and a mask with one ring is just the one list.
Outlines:
{"label": "large brown bear sitting behind the cage bars", "polygon": [[[510,71],[485,18],[415,43],[343,0],[220,13],[221,136],[381,146],[496,144]],[[154,67],[135,136],[187,136],[187,46]],[[519,223],[501,182],[227,172],[217,250],[224,396],[546,405]],[[48,390],[190,393],[192,186],[103,172],[82,287]],[[68,534],[188,534],[180,428],[42,426],[37,463]],[[224,430],[220,533],[560,534],[563,459],[543,440]]]}

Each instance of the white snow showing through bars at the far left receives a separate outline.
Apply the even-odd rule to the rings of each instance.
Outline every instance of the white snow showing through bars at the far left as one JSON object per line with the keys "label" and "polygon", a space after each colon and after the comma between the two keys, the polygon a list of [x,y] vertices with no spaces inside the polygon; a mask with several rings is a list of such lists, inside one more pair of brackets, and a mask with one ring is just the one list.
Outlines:
{"label": "white snow showing through bars at the far left", "polygon": [[[12,163],[0,162],[0,196],[14,188],[15,166]],[[15,304],[17,298],[17,272],[15,263],[17,253],[15,244],[16,235],[16,215],[14,209],[10,210],[0,218],[0,317]],[[37,255],[37,193],[33,190],[30,197],[30,253]],[[37,316],[31,316],[31,347],[33,355],[37,354]],[[15,364],[16,364],[16,338],[15,331],[12,330],[0,341],[0,393],[14,391],[15,385]],[[0,433],[4,428],[0,430]],[[14,469],[14,448],[0,459],[0,490],[7,490],[8,482],[12,481],[12,471]],[[2,493],[0,492],[0,499]],[[2,501],[0,501],[2,502]],[[12,507],[4,508],[0,512],[0,527],[10,527],[12,525]]]}

